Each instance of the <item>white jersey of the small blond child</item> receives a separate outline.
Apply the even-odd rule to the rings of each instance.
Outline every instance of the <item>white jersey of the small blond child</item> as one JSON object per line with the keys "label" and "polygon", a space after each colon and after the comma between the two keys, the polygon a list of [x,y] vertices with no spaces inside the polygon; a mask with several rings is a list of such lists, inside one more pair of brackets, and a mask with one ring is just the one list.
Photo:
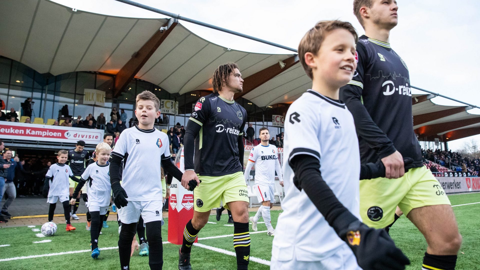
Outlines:
{"label": "white jersey of the small blond child", "polygon": [[[98,161],[90,164],[82,173],[82,179],[87,180],[88,206],[108,206],[110,204],[110,162],[100,165]],[[128,195],[128,193],[127,193]]]}

